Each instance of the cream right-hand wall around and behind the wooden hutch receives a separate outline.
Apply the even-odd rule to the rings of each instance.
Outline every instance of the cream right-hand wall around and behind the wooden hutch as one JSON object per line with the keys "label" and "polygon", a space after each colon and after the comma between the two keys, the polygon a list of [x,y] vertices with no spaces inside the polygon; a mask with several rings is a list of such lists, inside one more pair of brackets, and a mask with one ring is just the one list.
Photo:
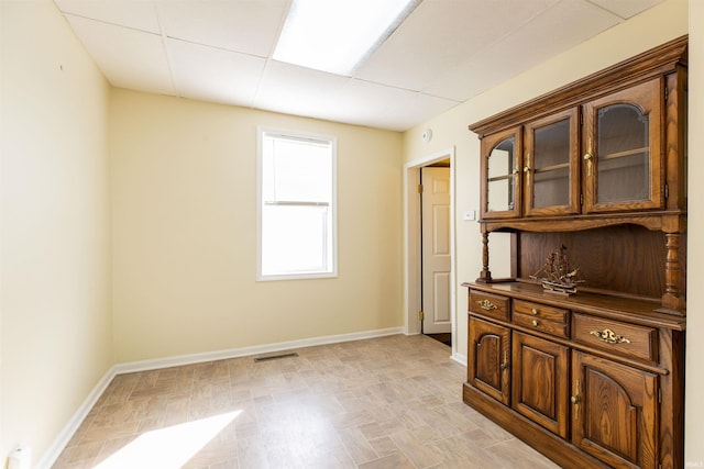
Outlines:
{"label": "cream right-hand wall around and behind the wooden hutch", "polygon": [[[669,40],[688,34],[688,31],[704,30],[704,14],[702,9],[704,3],[700,0],[667,0],[660,5],[613,27],[601,35],[584,42],[583,44],[561,54],[515,78],[506,80],[502,85],[486,91],[485,93],[441,114],[417,127],[408,131],[404,135],[404,159],[405,161],[417,160],[425,155],[433,154],[443,148],[455,146],[455,220],[457,220],[457,263],[458,263],[458,295],[457,295],[457,330],[458,340],[455,354],[465,356],[466,354],[466,289],[459,283],[471,281],[477,278],[482,267],[481,261],[481,237],[479,227],[474,222],[462,221],[461,214],[465,210],[479,209],[479,152],[480,144],[476,137],[468,131],[470,123],[487,118],[496,112],[519,104],[531,98],[549,92],[562,85],[574,81],[585,75],[603,69],[619,60],[639,54],[650,47],[654,47]],[[689,7],[692,12],[688,14]],[[695,14],[698,11],[698,14]],[[689,24],[688,24],[689,21]],[[704,63],[704,44],[702,33],[692,34],[691,37],[690,64],[693,65],[690,76],[691,96],[690,102],[692,122],[690,123],[690,174],[704,174],[704,163],[696,158],[697,154],[704,152],[704,141],[702,132],[694,129],[702,129],[704,120],[704,99],[702,91],[694,89],[692,83],[701,83],[704,80],[702,64]],[[698,51],[697,51],[698,48]],[[696,71],[698,70],[698,81]],[[697,124],[698,123],[698,124]],[[696,126],[698,125],[698,126]],[[420,134],[426,129],[432,129],[433,138],[430,144],[424,144]],[[690,187],[690,200],[704,200],[704,189]],[[697,197],[698,192],[698,197]],[[702,222],[702,210],[690,204],[690,239],[701,239],[704,225]],[[697,233],[700,233],[697,235]],[[506,252],[505,239],[495,239],[495,235],[490,238],[492,247],[492,273],[501,277],[507,273],[508,264],[503,253]],[[704,255],[701,248],[692,246],[689,248],[689,281],[690,286],[702,282],[701,259]],[[697,259],[698,264],[693,259]],[[700,289],[701,290],[701,289]],[[688,354],[690,357],[704,355],[704,322],[701,314],[697,314],[697,304],[704,304],[704,293],[691,288],[689,292],[689,328],[688,328]],[[700,345],[697,345],[700,344]],[[700,464],[696,467],[704,467],[704,404],[698,398],[698,390],[704,389],[704,372],[700,366],[695,366],[695,360],[688,360],[688,415],[686,415],[686,458],[688,461]],[[698,402],[697,402],[698,401]]]}

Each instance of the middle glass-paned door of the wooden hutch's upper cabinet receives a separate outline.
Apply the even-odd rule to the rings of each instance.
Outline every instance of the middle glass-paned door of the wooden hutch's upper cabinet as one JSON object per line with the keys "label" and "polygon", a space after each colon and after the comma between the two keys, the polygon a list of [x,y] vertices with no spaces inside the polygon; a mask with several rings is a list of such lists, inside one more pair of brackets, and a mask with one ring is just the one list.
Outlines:
{"label": "middle glass-paned door of the wooden hutch's upper cabinet", "polygon": [[578,109],[531,122],[525,129],[526,215],[579,213]]}

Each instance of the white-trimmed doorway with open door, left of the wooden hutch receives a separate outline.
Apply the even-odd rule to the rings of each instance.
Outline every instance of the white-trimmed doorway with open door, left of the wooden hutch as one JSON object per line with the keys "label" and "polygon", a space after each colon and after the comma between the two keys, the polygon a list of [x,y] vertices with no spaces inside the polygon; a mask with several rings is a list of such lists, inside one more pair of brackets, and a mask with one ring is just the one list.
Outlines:
{"label": "white-trimmed doorway with open door, left of the wooden hutch", "polygon": [[[457,344],[457,331],[455,331],[455,259],[454,259],[454,148],[449,148],[436,154],[429,155],[425,158],[420,158],[410,161],[405,165],[404,172],[404,187],[405,187],[405,310],[406,310],[406,333],[411,334],[443,334],[440,336],[442,342],[449,344],[452,349],[452,355],[455,354]],[[441,238],[436,238],[435,250],[436,253],[446,253],[444,258],[449,257],[449,271],[446,269],[431,268],[428,255],[424,261],[422,256],[422,200],[419,193],[419,186],[421,183],[421,174],[425,178],[424,185],[428,183],[428,178],[432,171],[431,168],[444,168],[449,171],[449,179],[447,182],[441,182],[439,186],[448,185],[446,188],[446,198],[449,198],[449,206],[437,206],[435,209],[437,222],[444,221],[449,224],[446,230],[446,234]],[[448,190],[449,189],[449,190]],[[424,189],[426,191],[428,189]],[[426,192],[426,196],[428,193]],[[427,198],[428,199],[428,198]],[[432,198],[430,198],[432,199]],[[442,204],[438,204],[442,205]],[[433,210],[433,209],[431,209]],[[426,210],[428,211],[428,210]],[[426,222],[430,215],[425,215]],[[426,224],[428,226],[428,224]],[[430,223],[432,226],[432,223]],[[426,241],[428,236],[426,236]],[[432,239],[432,237],[431,237]],[[449,256],[447,252],[449,250]],[[430,267],[430,268],[429,268]],[[425,272],[424,272],[425,271]],[[424,273],[426,280],[424,280]],[[435,292],[424,292],[424,286],[426,290],[429,286],[439,286]],[[440,304],[444,311],[441,314],[437,314],[435,311],[426,311],[428,309],[428,302],[432,301],[432,305]],[[425,304],[424,304],[425,303]],[[441,328],[438,328],[441,327]]]}

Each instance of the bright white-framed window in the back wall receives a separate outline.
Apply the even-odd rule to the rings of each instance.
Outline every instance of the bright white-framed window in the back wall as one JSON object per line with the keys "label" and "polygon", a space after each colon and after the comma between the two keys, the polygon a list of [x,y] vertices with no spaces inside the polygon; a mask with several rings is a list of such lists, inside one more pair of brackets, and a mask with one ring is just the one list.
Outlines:
{"label": "bright white-framed window in the back wall", "polygon": [[258,130],[260,280],[337,276],[336,138]]}

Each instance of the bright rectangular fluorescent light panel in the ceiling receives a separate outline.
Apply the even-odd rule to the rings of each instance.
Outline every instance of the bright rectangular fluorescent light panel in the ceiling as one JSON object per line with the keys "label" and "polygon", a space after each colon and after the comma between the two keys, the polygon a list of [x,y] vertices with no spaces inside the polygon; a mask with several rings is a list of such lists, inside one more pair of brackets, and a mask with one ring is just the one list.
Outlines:
{"label": "bright rectangular fluorescent light panel in the ceiling", "polygon": [[293,0],[273,58],[351,76],[421,0]]}

